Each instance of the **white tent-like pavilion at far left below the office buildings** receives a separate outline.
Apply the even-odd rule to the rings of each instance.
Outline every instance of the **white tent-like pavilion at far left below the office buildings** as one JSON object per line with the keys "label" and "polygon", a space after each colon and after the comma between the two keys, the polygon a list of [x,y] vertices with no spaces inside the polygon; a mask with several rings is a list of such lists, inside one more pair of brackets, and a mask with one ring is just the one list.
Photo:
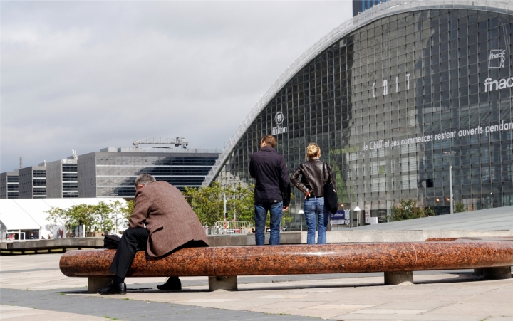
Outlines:
{"label": "white tent-like pavilion at far left below the office buildings", "polygon": [[98,204],[100,201],[123,199],[0,199],[1,229],[38,230],[48,225],[46,217],[53,206],[68,209],[78,204]]}

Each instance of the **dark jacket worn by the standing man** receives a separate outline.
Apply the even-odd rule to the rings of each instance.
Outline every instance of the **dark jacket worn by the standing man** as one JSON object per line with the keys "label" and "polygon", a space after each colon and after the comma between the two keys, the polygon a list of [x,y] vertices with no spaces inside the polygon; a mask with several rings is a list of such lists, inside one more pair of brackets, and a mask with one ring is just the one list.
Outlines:
{"label": "dark jacket worn by the standing man", "polygon": [[290,204],[290,182],[285,159],[271,147],[264,146],[252,154],[249,162],[249,174],[257,181],[255,184],[255,202]]}

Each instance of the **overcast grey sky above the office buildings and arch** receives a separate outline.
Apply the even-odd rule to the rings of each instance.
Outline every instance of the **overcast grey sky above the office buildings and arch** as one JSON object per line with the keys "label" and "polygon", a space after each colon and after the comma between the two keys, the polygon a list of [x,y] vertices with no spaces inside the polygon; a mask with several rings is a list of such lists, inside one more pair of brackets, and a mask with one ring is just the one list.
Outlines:
{"label": "overcast grey sky above the office buildings and arch", "polygon": [[222,149],[351,1],[0,1],[1,168],[145,137]]}

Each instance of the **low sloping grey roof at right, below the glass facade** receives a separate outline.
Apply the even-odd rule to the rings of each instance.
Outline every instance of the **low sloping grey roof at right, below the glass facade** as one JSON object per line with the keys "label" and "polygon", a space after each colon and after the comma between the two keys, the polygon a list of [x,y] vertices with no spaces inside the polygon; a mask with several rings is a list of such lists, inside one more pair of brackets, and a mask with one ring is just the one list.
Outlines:
{"label": "low sloping grey roof at right, below the glass facade", "polygon": [[513,206],[423,217],[351,228],[375,231],[509,231],[513,230]]}

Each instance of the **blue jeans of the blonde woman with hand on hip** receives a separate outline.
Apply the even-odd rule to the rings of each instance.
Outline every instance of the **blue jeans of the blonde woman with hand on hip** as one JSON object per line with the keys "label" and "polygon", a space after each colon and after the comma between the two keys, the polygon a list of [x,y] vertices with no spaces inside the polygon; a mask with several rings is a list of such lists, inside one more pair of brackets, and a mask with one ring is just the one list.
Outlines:
{"label": "blue jeans of the blonde woman with hand on hip", "polygon": [[315,244],[315,230],[317,225],[317,244],[326,244],[326,227],[328,226],[328,209],[324,206],[324,197],[312,196],[305,199],[304,212],[306,227],[306,243]]}

